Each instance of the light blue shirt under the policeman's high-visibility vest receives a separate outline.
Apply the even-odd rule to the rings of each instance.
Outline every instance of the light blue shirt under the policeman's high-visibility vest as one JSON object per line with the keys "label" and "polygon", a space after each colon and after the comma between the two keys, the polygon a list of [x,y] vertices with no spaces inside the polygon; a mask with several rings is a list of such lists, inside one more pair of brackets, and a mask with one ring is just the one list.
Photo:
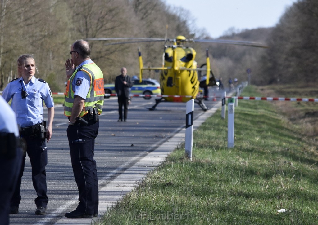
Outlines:
{"label": "light blue shirt under the policeman's high-visibility vest", "polygon": [[[91,59],[88,59],[79,65],[82,66],[84,64],[93,63]],[[77,67],[76,70],[79,68]],[[72,87],[74,87],[74,95],[80,96],[86,99],[87,93],[91,86],[91,78],[87,75],[87,73],[83,71],[78,71],[75,74],[75,78],[73,79]]]}

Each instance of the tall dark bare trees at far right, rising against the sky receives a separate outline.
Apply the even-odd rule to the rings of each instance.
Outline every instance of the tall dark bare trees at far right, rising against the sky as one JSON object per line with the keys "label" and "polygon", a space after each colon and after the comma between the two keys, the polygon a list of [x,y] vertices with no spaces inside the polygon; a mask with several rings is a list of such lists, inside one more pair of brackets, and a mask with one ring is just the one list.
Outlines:
{"label": "tall dark bare trees at far right, rising against the sky", "polygon": [[[261,68],[267,82],[317,82],[318,2],[302,0],[289,7],[269,38]],[[265,59],[265,60],[264,60]]]}

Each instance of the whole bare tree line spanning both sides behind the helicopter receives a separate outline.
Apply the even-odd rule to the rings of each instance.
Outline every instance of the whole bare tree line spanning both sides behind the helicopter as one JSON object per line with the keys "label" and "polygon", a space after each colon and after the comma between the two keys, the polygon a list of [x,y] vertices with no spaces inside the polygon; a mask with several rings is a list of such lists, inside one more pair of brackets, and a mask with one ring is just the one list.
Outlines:
{"label": "whole bare tree line spanning both sides behind the helicopter", "polygon": [[[317,81],[318,2],[302,0],[289,7],[274,28],[233,32],[222,39],[261,41],[268,49],[222,44],[194,43],[197,62],[204,63],[204,51],[211,52],[215,76],[246,80],[252,70],[253,83],[268,84]],[[171,8],[163,0],[2,0],[0,2],[0,90],[17,77],[17,58],[34,55],[39,78],[55,91],[64,90],[64,63],[77,39],[96,37],[210,38],[196,29],[195,15],[183,8]],[[199,24],[198,24],[199,25]],[[167,29],[168,26],[168,29]],[[231,32],[232,31],[232,32]],[[105,45],[89,41],[92,59],[100,66],[106,83],[114,81],[121,67],[138,74],[138,48],[144,66],[162,63],[163,43]],[[152,72],[145,74],[159,78]]]}

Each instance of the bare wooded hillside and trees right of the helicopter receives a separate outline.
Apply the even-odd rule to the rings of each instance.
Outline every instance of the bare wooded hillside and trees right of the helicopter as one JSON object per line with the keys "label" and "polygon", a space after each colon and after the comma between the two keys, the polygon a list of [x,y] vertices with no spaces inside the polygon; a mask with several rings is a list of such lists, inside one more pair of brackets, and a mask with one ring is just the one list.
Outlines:
{"label": "bare wooded hillside and trees right of the helicopter", "polygon": [[299,0],[289,6],[272,28],[229,29],[221,39],[260,41],[267,49],[221,46],[212,49],[219,76],[252,83],[303,85],[318,82],[318,1]]}

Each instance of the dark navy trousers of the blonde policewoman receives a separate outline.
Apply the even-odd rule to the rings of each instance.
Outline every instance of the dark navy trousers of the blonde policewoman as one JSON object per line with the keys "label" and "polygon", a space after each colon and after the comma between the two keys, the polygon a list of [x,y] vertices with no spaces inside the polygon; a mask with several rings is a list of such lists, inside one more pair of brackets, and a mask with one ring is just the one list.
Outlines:
{"label": "dark navy trousers of the blonde policewoman", "polygon": [[[25,136],[24,139],[26,141],[26,152],[28,153],[31,162],[32,183],[38,195],[38,197],[34,199],[34,202],[36,206],[43,206],[46,208],[49,198],[46,195],[47,187],[45,166],[47,164],[47,148],[45,139],[33,139],[28,136]],[[24,172],[25,156],[26,155],[24,154],[22,158],[20,174],[10,202],[11,206],[18,207],[21,201],[20,189]]]}

